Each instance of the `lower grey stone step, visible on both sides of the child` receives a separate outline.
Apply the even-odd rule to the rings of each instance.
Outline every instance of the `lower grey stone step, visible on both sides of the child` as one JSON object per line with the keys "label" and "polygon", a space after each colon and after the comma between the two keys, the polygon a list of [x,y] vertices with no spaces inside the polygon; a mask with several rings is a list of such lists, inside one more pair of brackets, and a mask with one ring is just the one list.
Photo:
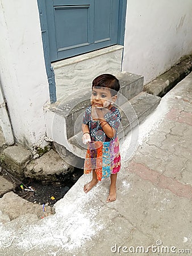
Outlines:
{"label": "lower grey stone step, visible on both sides of the child", "polygon": [[[118,137],[122,139],[131,129],[139,125],[160,103],[161,98],[145,92],[139,93],[130,101],[119,106],[122,122],[119,127]],[[68,150],[75,152],[80,158],[85,157],[87,146],[82,143],[80,131],[68,139]]]}

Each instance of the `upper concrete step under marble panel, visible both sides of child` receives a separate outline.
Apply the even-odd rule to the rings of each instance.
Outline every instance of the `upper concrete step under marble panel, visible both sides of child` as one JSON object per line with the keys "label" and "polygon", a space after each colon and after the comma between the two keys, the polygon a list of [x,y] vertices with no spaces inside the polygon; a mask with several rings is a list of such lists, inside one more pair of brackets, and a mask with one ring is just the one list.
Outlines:
{"label": "upper concrete step under marble panel, visible both sides of child", "polygon": [[[143,90],[143,76],[120,73],[120,92],[116,104],[122,105]],[[45,106],[45,122],[48,140],[67,146],[67,140],[81,131],[82,116],[90,104],[91,88],[78,89],[55,104]],[[66,137],[66,139],[64,138]],[[66,147],[68,148],[68,147]]]}

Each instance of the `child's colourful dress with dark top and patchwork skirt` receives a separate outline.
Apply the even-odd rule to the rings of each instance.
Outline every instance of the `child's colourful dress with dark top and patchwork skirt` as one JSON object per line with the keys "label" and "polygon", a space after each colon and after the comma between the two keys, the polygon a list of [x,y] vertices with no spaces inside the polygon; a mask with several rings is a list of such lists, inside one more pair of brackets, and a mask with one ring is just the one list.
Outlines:
{"label": "child's colourful dress with dark top and patchwork skirt", "polygon": [[[105,120],[116,130],[117,134],[121,117],[115,106],[112,106],[105,114]],[[115,134],[114,138],[107,137],[100,122],[94,121],[91,117],[91,106],[86,109],[82,123],[89,126],[91,137],[91,142],[87,144],[84,174],[95,170],[97,179],[102,180],[105,177],[110,177],[111,174],[118,173],[120,171],[120,152],[117,135]]]}

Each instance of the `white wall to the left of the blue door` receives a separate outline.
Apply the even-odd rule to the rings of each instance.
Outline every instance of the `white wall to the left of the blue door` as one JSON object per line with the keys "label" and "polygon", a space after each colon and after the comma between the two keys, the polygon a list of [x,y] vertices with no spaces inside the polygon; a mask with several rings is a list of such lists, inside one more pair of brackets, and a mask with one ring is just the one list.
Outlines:
{"label": "white wall to the left of the blue door", "polygon": [[44,146],[49,101],[37,1],[0,0],[0,79],[16,139]]}

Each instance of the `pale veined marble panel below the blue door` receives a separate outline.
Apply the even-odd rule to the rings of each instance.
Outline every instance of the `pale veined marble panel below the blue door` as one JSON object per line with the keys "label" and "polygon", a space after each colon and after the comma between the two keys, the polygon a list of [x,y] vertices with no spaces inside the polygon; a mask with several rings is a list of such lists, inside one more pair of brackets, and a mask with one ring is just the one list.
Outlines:
{"label": "pale veined marble panel below the blue door", "polygon": [[122,67],[122,46],[112,46],[53,63],[57,99],[89,87],[102,73],[118,75]]}

